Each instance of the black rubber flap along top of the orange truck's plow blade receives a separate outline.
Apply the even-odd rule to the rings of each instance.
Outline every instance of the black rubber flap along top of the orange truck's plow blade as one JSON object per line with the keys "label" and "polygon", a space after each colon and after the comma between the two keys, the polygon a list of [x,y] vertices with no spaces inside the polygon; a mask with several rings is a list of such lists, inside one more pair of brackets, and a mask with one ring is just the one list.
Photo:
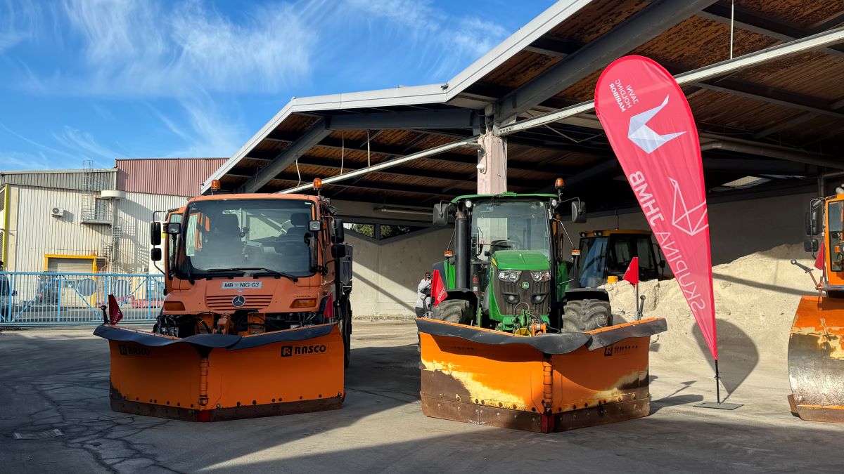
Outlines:
{"label": "black rubber flap along top of the orange truck's plow blade", "polygon": [[170,344],[192,344],[199,347],[225,347],[230,351],[263,346],[273,342],[304,341],[321,337],[331,332],[332,324],[307,326],[292,331],[275,331],[255,336],[236,336],[234,334],[196,334],[183,338],[165,337],[146,331],[137,331],[122,327],[97,326],[94,335],[110,341],[135,342],[146,347],[169,346]]}

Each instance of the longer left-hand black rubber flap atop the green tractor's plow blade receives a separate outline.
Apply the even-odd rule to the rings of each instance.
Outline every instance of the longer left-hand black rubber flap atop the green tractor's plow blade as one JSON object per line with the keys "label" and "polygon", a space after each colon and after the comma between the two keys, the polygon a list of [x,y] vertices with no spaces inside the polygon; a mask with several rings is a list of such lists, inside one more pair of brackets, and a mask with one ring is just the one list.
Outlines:
{"label": "longer left-hand black rubber flap atop the green tractor's plow blade", "polygon": [[526,344],[546,354],[571,353],[589,342],[589,335],[584,332],[564,332],[524,337],[499,331],[484,331],[473,326],[457,326],[438,320],[425,319],[416,320],[416,327],[420,332],[432,336],[459,337],[483,344]]}

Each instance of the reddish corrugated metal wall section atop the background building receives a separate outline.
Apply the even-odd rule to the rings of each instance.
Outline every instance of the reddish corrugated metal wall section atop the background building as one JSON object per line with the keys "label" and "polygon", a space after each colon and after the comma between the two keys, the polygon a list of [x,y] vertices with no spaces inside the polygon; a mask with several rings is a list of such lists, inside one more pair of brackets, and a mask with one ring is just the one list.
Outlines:
{"label": "reddish corrugated metal wall section atop the background building", "polygon": [[225,158],[116,159],[117,189],[194,197]]}

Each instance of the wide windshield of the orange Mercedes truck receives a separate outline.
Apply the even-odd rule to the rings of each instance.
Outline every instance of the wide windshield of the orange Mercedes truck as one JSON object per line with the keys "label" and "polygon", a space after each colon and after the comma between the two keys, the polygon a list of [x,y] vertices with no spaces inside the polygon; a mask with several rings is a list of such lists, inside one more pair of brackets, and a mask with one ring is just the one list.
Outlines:
{"label": "wide windshield of the orange Mercedes truck", "polygon": [[295,199],[192,202],[183,219],[178,277],[202,278],[262,268],[311,275],[313,203]]}

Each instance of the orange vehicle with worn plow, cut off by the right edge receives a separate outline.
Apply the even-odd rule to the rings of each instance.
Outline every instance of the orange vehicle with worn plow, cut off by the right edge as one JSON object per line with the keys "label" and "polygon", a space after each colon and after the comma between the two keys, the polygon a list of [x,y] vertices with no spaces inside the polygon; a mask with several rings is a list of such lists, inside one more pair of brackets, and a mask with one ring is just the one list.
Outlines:
{"label": "orange vehicle with worn plow, cut off by the right edge", "polygon": [[844,423],[844,194],[812,201],[806,230],[805,248],[822,274],[820,282],[812,275],[818,293],[803,296],[794,315],[788,401],[804,420]]}

